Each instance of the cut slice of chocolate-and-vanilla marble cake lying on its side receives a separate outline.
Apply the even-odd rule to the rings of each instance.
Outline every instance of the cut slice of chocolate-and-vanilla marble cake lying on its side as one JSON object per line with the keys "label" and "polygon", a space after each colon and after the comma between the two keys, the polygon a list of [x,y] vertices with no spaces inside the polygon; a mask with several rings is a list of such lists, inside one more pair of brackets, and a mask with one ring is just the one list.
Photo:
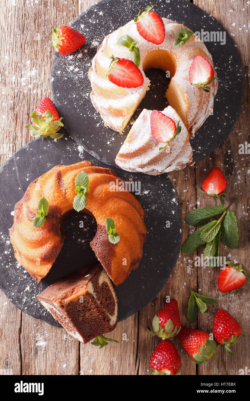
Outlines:
{"label": "cut slice of chocolate-and-vanilla marble cake lying on its side", "polygon": [[37,299],[71,336],[84,344],[116,327],[118,301],[100,263],[63,277]]}

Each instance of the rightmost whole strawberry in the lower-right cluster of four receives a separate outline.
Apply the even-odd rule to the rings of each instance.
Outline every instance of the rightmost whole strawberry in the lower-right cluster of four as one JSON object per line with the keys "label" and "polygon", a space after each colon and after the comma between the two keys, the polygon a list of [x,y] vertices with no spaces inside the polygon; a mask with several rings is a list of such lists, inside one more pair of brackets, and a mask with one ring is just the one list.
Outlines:
{"label": "rightmost whole strawberry in the lower-right cluster of four", "polygon": [[236,344],[242,336],[240,324],[224,309],[218,310],[213,322],[213,335],[219,344],[225,345],[229,354],[233,354],[230,345]]}

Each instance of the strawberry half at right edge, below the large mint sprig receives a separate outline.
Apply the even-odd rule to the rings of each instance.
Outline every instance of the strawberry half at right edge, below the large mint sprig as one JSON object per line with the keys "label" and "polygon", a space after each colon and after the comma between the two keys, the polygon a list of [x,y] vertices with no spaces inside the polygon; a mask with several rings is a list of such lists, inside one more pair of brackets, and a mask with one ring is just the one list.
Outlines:
{"label": "strawberry half at right edge, below the large mint sprig", "polygon": [[226,264],[228,266],[224,267],[218,276],[218,290],[220,292],[236,290],[243,286],[246,276],[250,277],[250,273],[242,269],[241,263],[235,263],[234,265],[228,261]]}

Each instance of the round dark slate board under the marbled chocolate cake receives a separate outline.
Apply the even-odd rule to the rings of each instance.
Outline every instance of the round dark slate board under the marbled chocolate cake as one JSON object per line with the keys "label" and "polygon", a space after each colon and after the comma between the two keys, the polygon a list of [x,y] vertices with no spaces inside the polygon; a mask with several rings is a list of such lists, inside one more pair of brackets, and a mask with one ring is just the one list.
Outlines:
{"label": "round dark slate board under the marbled chocolate cake", "polygon": [[[55,326],[59,324],[37,301],[36,295],[66,274],[97,262],[89,246],[96,234],[96,221],[76,212],[66,222],[63,249],[39,284],[14,258],[8,232],[13,224],[14,205],[22,198],[30,182],[57,164],[73,164],[81,160],[107,167],[87,152],[79,151],[65,132],[64,137],[57,141],[51,138],[32,140],[0,169],[0,289],[19,309]],[[133,178],[140,183],[141,193],[136,198],[145,210],[147,227],[139,268],[116,287],[120,321],[147,305],[166,284],[179,255],[182,227],[179,201],[166,174],[154,177],[131,174],[118,168],[114,171],[125,181]],[[166,221],[170,221],[170,228],[166,228]],[[83,222],[83,228],[79,227],[82,225],[80,222]]]}

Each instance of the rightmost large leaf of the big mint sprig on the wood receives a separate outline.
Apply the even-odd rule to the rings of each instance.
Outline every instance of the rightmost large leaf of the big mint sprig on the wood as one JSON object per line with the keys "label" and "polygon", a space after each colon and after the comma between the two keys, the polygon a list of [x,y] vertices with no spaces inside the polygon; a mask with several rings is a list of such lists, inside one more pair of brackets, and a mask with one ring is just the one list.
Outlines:
{"label": "rightmost large leaf of the big mint sprig on the wood", "polygon": [[239,234],[234,212],[228,210],[221,227],[222,242],[230,249],[238,247]]}

